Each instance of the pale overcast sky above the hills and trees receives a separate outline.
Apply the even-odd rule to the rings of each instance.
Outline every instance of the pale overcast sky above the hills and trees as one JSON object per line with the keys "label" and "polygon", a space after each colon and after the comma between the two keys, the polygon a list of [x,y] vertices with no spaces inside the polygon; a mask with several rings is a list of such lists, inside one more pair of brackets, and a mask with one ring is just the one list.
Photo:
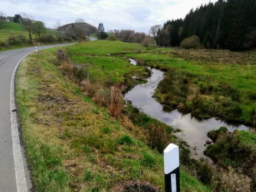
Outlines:
{"label": "pale overcast sky above the hills and trees", "polygon": [[[211,0],[215,2],[216,0]],[[133,29],[148,32],[150,26],[166,20],[184,18],[191,8],[209,0],[0,0],[0,11],[6,16],[26,12],[34,20],[42,20],[49,28],[83,18],[85,22],[105,30]]]}

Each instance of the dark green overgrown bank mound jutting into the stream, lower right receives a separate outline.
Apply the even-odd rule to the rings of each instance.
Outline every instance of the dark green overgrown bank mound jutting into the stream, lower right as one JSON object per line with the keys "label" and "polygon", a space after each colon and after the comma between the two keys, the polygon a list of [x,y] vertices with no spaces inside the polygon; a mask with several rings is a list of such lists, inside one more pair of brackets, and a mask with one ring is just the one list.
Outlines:
{"label": "dark green overgrown bank mound jutting into the stream, lower right", "polygon": [[[209,156],[219,167],[234,169],[244,177],[244,185],[256,190],[256,134],[235,130],[228,132],[226,127],[208,132],[214,142],[204,154]],[[241,177],[241,179],[243,176]],[[243,184],[242,184],[243,185]]]}

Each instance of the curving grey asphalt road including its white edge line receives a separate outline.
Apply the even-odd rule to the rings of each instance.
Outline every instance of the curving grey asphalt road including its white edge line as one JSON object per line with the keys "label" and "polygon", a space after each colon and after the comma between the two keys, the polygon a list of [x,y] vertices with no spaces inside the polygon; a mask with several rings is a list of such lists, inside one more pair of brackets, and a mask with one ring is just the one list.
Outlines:
{"label": "curving grey asphalt road including its white edge line", "polygon": [[[67,45],[70,44],[60,44],[59,46]],[[38,50],[51,47],[56,47],[56,45],[39,46]],[[15,77],[15,73],[13,78],[12,74],[16,64],[24,56],[34,51],[35,47],[29,47],[0,52],[0,192],[32,191],[25,150],[19,139],[20,131],[18,126],[16,133],[13,129],[13,124],[17,123],[15,104],[10,102],[10,100],[14,100],[10,84]],[[14,108],[10,109],[11,106]],[[17,151],[16,148],[18,148]],[[17,158],[19,154],[21,158]]]}

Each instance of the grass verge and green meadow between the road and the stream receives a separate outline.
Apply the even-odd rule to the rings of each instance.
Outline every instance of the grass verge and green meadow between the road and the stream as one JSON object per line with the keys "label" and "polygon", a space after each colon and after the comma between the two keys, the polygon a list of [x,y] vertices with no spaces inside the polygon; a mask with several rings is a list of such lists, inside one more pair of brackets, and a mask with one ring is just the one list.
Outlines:
{"label": "grass verge and green meadow between the road and the stream", "polygon": [[[145,70],[106,53],[138,49],[142,47],[97,41],[70,46],[68,52],[73,63],[85,65],[92,82],[108,86],[129,82]],[[37,190],[118,191],[126,181],[150,182],[163,190],[163,157],[145,144],[144,130],[123,126],[63,76],[56,50],[25,58],[16,81],[23,138]],[[183,170],[181,188],[182,192],[210,191]]]}

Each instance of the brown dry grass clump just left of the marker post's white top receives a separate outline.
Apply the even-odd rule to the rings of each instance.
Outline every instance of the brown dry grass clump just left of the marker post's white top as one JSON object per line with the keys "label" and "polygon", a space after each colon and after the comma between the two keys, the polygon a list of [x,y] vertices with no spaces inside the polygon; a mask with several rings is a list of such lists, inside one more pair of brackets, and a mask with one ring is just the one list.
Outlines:
{"label": "brown dry grass clump just left of the marker post's white top", "polygon": [[148,125],[148,140],[151,148],[157,149],[160,153],[162,153],[168,144],[166,125],[157,121],[150,122]]}

